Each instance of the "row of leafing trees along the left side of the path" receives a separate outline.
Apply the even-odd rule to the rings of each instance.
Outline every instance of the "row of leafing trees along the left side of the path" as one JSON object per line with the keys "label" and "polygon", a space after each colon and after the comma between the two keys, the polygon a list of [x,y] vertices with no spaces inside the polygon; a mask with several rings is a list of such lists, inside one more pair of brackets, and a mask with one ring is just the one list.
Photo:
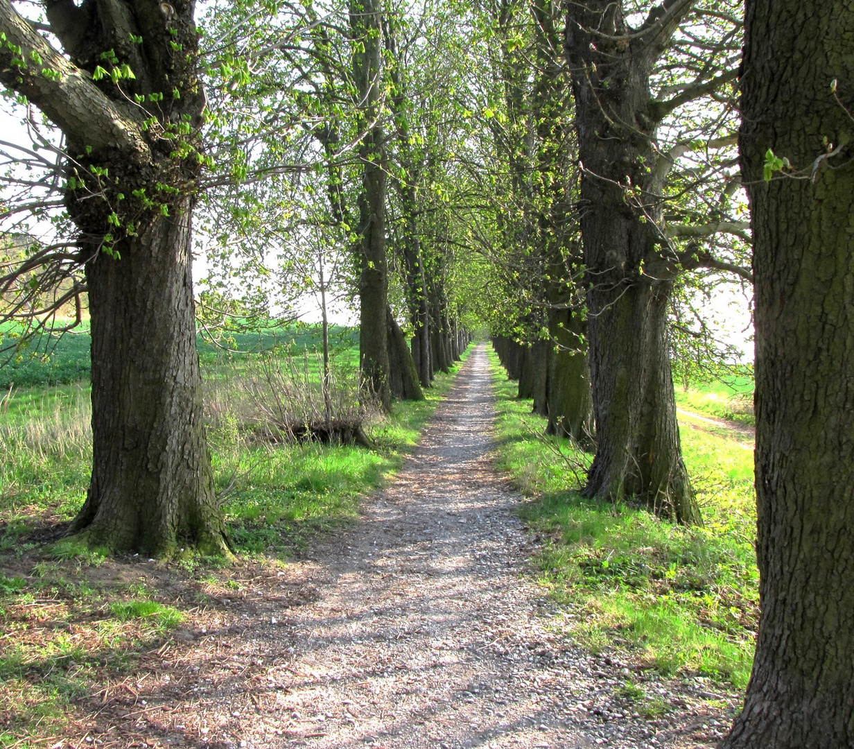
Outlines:
{"label": "row of leafing trees along the left side of the path", "polygon": [[[322,15],[310,4],[230,4],[210,9],[200,47],[194,9],[56,0],[28,19],[12,3],[0,6],[0,79],[26,106],[35,140],[18,153],[56,154],[36,165],[48,175],[41,182],[13,177],[40,201],[4,218],[32,213],[34,203],[49,216],[52,194],[64,208],[56,242],[33,243],[6,266],[3,291],[23,297],[8,317],[32,316],[24,302],[57,278],[74,278],[73,293],[88,297],[93,467],[72,532],[119,551],[228,553],[196,354],[191,221],[200,198],[220,251],[213,275],[237,264],[250,296],[265,293],[255,280],[269,275],[279,237],[304,238],[308,227],[337,238],[315,258],[315,280],[325,293],[324,268],[337,265],[352,282],[365,388],[384,408],[392,395],[422,398],[470,340],[448,287],[447,211],[431,210],[431,191],[419,190],[419,173],[438,168],[436,138],[429,154],[415,153],[404,111],[413,105],[395,59],[401,14],[370,2]],[[395,169],[392,114],[402,155]],[[61,140],[44,133],[51,125]],[[389,174],[412,353],[389,305]],[[307,202],[318,182],[322,206]],[[210,291],[208,301],[222,301],[215,285]]]}

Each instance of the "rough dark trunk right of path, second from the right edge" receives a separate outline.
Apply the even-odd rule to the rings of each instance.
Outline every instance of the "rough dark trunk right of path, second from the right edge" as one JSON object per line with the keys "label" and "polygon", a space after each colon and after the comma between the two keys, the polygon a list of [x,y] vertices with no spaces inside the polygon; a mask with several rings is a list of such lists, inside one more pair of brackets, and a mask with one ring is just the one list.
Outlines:
{"label": "rough dark trunk right of path, second from the right edge", "polygon": [[589,0],[570,4],[567,21],[584,165],[581,228],[597,445],[584,493],[634,496],[686,524],[699,523],[700,515],[682,462],[668,356],[676,268],[664,258],[658,231],[661,185],[646,165],[663,116],[652,102],[650,73],[690,8],[664,3],[635,31],[622,3]]}

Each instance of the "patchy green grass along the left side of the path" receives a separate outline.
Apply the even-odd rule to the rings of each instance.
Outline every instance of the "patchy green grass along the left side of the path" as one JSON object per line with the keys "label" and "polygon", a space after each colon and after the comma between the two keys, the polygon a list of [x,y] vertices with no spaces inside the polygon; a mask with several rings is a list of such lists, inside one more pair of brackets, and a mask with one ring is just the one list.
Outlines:
{"label": "patchy green grass along the left side of the path", "polygon": [[[299,332],[292,351],[317,340]],[[352,331],[339,336],[342,370],[358,361],[354,345]],[[215,629],[258,590],[280,595],[278,573],[319,534],[358,517],[361,498],[400,467],[457,371],[438,374],[425,401],[395,403],[373,419],[377,448],[367,450],[259,442],[243,422],[245,404],[228,396],[251,360],[218,348],[201,358],[218,409],[208,409],[208,436],[236,566],[111,559],[61,541],[89,481],[89,386],[16,387],[0,406],[0,746],[67,738],[74,720],[107,699],[97,696],[103,685],[161,670],[159,653],[177,633]],[[307,357],[312,372],[316,361]]]}

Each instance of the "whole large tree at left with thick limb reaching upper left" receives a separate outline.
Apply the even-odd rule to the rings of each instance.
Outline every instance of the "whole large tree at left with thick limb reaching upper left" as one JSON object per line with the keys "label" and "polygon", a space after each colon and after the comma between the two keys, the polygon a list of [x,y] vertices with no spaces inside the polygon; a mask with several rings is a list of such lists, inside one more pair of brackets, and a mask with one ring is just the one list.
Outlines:
{"label": "whole large tree at left with thick limb reaching upper left", "polygon": [[0,0],[0,81],[66,139],[64,202],[89,294],[93,463],[71,532],[118,551],[228,553],[190,273],[205,106],[193,7],[49,2],[69,61]]}

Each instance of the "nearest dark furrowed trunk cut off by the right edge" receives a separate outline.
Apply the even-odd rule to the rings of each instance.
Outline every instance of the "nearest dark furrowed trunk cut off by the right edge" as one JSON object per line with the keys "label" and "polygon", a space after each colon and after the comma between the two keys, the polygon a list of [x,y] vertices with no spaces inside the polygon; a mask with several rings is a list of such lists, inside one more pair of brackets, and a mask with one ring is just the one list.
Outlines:
{"label": "nearest dark furrowed trunk cut off by the right edge", "polygon": [[854,746],[852,34],[849,3],[746,3],[762,613],[726,749]]}

